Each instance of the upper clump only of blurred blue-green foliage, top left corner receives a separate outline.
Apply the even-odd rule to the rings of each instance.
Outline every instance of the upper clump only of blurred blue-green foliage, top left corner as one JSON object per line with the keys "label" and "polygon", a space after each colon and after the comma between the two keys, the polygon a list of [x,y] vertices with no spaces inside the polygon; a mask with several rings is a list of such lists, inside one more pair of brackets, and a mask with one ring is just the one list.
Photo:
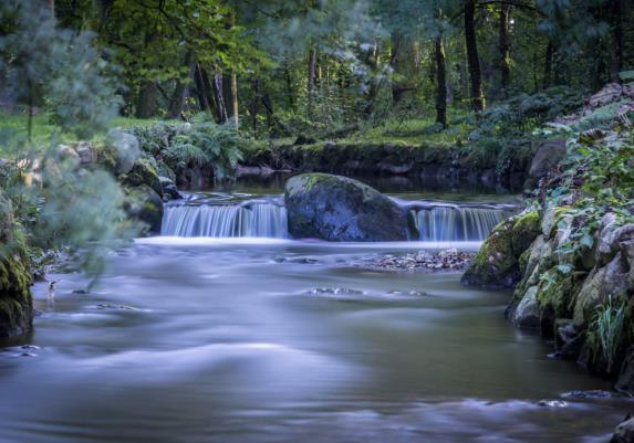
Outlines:
{"label": "upper clump only of blurred blue-green foliage, top left corner", "polygon": [[[0,36],[0,96],[24,103],[29,116],[44,106],[51,123],[79,137],[105,129],[117,101],[93,34],[60,30],[50,10],[33,1],[2,2],[0,23],[12,24],[12,32]],[[31,119],[28,124],[30,138]]]}

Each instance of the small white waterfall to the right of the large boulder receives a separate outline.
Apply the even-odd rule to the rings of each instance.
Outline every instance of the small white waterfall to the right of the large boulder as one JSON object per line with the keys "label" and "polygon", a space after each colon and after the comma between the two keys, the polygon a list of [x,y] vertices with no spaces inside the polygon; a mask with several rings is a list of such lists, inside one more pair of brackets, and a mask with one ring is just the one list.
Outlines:
{"label": "small white waterfall to the right of the large boulder", "polygon": [[497,208],[437,205],[412,210],[420,241],[484,241],[493,228],[510,215]]}

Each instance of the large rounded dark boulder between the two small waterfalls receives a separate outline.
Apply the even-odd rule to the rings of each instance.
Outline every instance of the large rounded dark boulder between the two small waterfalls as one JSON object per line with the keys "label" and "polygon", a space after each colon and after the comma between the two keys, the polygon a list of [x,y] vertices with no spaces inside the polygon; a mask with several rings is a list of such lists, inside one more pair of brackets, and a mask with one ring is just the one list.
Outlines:
{"label": "large rounded dark boulder between the two small waterfalls", "polygon": [[360,181],[304,173],[287,182],[289,232],[332,242],[402,241],[407,214],[395,201]]}

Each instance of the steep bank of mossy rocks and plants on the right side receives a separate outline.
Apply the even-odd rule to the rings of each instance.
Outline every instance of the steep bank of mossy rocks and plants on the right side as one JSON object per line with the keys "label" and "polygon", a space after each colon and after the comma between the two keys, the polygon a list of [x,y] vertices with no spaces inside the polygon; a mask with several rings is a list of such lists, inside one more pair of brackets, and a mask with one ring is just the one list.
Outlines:
{"label": "steep bank of mossy rocks and plants on the right side", "polygon": [[[500,223],[462,283],[512,288],[506,315],[634,394],[634,84],[607,85],[561,117],[567,150],[537,173],[522,214]],[[548,158],[548,152],[544,152]],[[634,421],[614,442],[634,441]]]}

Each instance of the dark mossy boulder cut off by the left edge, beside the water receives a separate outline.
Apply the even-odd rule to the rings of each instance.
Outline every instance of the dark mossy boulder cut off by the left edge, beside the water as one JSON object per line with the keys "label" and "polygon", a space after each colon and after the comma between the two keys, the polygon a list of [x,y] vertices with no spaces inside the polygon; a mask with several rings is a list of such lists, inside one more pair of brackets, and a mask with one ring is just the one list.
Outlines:
{"label": "dark mossy boulder cut off by the left edge, beside the water", "polygon": [[29,261],[14,229],[11,202],[0,194],[0,337],[22,335],[33,321]]}

